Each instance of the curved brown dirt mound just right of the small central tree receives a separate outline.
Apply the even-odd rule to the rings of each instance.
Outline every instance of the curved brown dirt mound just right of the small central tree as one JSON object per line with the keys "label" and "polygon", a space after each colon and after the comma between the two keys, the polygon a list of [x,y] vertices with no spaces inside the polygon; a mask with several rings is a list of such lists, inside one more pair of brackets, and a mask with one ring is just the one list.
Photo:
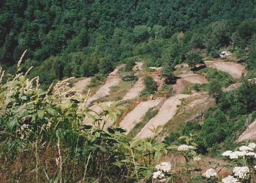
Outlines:
{"label": "curved brown dirt mound just right of the small central tree", "polygon": [[193,84],[208,83],[207,79],[205,79],[205,77],[203,77],[202,75],[199,75],[199,74],[193,74],[193,73],[181,74],[181,75],[179,75],[179,77],[181,77],[181,78],[177,79],[177,82],[173,86],[173,89],[172,89],[173,93],[175,93],[175,94],[178,94],[185,89],[185,86],[183,85],[182,81],[188,81]]}

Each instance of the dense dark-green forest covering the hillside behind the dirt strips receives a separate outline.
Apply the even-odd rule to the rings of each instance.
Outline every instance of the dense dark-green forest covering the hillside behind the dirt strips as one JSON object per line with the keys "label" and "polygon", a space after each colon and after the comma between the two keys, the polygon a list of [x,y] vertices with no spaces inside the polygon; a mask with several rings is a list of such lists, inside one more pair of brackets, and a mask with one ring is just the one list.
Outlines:
{"label": "dense dark-green forest covering the hillside behind the dirt strips", "polygon": [[[131,56],[147,55],[148,66],[159,66],[183,62],[189,51],[203,49],[205,55],[217,57],[229,46],[244,58],[256,30],[255,0],[1,0],[0,4],[1,65],[13,73],[27,49],[22,71],[34,66],[29,77],[39,75],[46,85],[64,77],[109,73]],[[250,63],[255,67],[254,61]]]}

